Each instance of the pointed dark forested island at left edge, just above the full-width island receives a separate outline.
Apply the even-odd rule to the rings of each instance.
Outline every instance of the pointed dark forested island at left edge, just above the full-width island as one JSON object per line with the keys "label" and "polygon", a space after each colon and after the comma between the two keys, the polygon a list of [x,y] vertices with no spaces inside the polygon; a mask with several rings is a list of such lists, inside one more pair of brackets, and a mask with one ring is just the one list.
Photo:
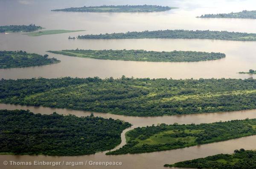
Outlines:
{"label": "pointed dark forested island at left edge, just above the full-width island", "polygon": [[29,54],[26,51],[0,51],[0,68],[24,68],[30,66],[49,65],[61,62],[39,54]]}

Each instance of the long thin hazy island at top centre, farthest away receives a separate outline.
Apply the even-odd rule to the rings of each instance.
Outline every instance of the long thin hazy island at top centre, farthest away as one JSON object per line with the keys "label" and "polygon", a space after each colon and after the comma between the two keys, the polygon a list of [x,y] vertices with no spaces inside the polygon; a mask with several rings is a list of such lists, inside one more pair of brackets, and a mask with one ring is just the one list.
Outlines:
{"label": "long thin hazy island at top centre, farthest away", "polygon": [[66,11],[66,12],[157,12],[168,11],[175,9],[169,6],[157,5],[122,5],[122,6],[84,6],[78,8],[64,8],[54,9],[52,11]]}

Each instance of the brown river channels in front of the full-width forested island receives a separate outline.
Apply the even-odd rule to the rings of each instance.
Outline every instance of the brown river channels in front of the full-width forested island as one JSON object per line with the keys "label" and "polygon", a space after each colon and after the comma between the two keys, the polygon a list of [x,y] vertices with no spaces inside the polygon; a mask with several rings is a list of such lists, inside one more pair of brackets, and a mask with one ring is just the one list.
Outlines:
{"label": "brown river channels in front of the full-width forested island", "polygon": [[[23,109],[30,110],[34,113],[51,114],[57,112],[59,114],[73,114],[77,116],[87,116],[90,112],[68,109],[56,109],[49,107],[33,107],[33,106],[20,106],[13,104],[0,104],[0,109]],[[104,118],[114,118],[124,121],[128,121],[133,126],[122,132],[122,143],[115,149],[125,144],[125,132],[131,130],[134,127],[151,126],[152,124],[166,123],[173,124],[175,122],[179,124],[200,124],[200,123],[212,123],[216,121],[227,121],[233,119],[245,119],[256,118],[256,110],[244,110],[235,112],[222,112],[222,113],[203,113],[192,115],[173,115],[173,116],[159,116],[159,117],[133,117],[124,115],[113,115],[109,113],[94,113],[95,116],[101,116]],[[99,152],[94,155],[82,155],[82,156],[29,156],[29,155],[1,155],[2,161],[120,161],[122,166],[74,166],[77,169],[161,169],[164,168],[165,163],[175,163],[178,161],[191,160],[194,158],[202,158],[208,155],[215,155],[218,153],[232,153],[234,149],[256,149],[256,135],[233,139],[229,141],[222,141],[212,144],[204,144],[200,146],[192,146],[183,149],[175,149],[161,152],[151,152],[143,154],[128,154],[128,155],[105,155],[105,152]],[[106,151],[107,152],[107,151]],[[0,163],[0,168],[4,167],[3,163]],[[19,166],[19,169],[33,169],[34,166]],[[14,169],[14,166],[5,166],[6,169]],[[70,166],[39,166],[39,169],[70,169]]]}

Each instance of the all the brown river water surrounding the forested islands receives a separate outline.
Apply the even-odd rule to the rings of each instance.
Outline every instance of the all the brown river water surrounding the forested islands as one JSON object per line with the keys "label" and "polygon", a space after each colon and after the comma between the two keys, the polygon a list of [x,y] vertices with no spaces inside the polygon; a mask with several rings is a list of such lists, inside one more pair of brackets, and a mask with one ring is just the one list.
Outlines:
{"label": "all the brown river water surrounding the forested islands", "polygon": [[[86,30],[84,32],[29,37],[22,33],[0,34],[0,50],[23,50],[32,53],[46,54],[48,50],[63,49],[144,49],[148,51],[207,51],[222,52],[226,58],[206,62],[133,62],[86,59],[49,54],[61,60],[61,63],[30,68],[1,69],[0,78],[21,79],[32,77],[57,78],[64,76],[106,78],[122,75],[150,78],[249,78],[247,74],[238,74],[255,68],[256,42],[236,42],[207,39],[111,39],[86,40],[67,39],[68,36],[82,34],[100,34],[126,31],[187,29],[239,31],[256,33],[256,20],[249,19],[200,19],[196,16],[208,13],[237,12],[244,9],[255,10],[254,0],[161,0],[157,5],[175,6],[174,9],[153,13],[77,13],[52,12],[50,9],[76,6],[122,4],[156,4],[155,0],[0,0],[0,25],[36,24],[50,29]],[[52,109],[47,107],[29,107],[10,104],[0,104],[0,109],[29,109],[35,113],[90,115],[89,112]],[[133,126],[122,133],[122,143],[125,144],[124,133],[134,127],[150,126],[152,124],[200,124],[232,119],[256,118],[256,110],[203,113],[194,115],[175,115],[160,117],[130,117],[108,113],[94,113],[104,118],[114,118],[128,121]],[[165,163],[175,163],[183,160],[206,157],[218,153],[232,153],[234,149],[256,149],[256,136],[244,137],[183,149],[151,152],[135,155],[106,156],[105,152],[95,155],[55,157],[29,155],[1,155],[2,169],[33,169],[35,166],[3,166],[2,161],[121,161],[122,166],[75,166],[77,169],[91,168],[123,168],[123,169],[161,169]],[[118,148],[117,147],[117,148]],[[70,169],[71,166],[36,166],[38,169]]]}

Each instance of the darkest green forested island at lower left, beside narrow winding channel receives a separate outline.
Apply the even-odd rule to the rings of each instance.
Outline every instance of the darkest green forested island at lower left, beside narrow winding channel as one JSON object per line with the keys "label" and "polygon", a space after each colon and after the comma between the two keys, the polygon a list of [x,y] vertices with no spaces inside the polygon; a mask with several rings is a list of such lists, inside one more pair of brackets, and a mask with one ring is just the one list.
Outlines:
{"label": "darkest green forested island at lower left, beside narrow winding channel", "polygon": [[112,118],[0,110],[0,154],[87,155],[113,149],[131,124]]}

